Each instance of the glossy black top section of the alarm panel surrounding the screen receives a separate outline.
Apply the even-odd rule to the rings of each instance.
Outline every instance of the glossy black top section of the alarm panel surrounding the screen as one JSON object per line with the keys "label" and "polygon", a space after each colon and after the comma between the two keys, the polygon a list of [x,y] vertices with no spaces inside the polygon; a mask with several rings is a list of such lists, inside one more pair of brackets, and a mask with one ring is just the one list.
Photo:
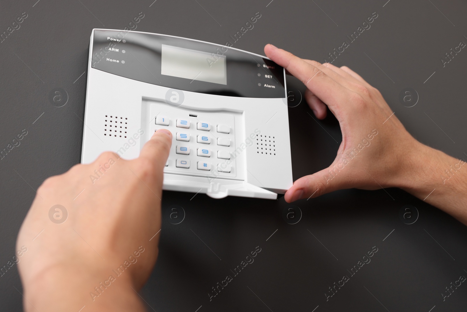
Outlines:
{"label": "glossy black top section of the alarm panel surrounding the screen", "polygon": [[[200,78],[203,73],[198,77],[193,74],[192,78],[189,75],[191,79],[161,74],[162,45],[194,50],[195,58],[196,51],[199,52],[198,57],[204,53],[206,65],[214,63],[218,68],[224,68],[226,79],[223,81],[226,84],[196,80],[203,79]],[[95,30],[92,67],[122,77],[185,91],[253,98],[285,97],[282,66],[248,52],[186,38]]]}

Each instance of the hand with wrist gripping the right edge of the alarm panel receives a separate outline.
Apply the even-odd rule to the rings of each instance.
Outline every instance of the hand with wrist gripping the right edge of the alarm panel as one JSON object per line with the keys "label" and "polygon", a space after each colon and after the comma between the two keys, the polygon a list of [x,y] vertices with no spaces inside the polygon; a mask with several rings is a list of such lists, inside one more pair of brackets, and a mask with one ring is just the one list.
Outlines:
{"label": "hand with wrist gripping the right edge of the alarm panel", "polygon": [[305,84],[315,116],[324,119],[329,108],[342,131],[333,163],[295,181],[287,202],[338,189],[399,187],[467,224],[464,161],[419,143],[381,93],[348,67],[301,59],[271,44],[264,51]]}

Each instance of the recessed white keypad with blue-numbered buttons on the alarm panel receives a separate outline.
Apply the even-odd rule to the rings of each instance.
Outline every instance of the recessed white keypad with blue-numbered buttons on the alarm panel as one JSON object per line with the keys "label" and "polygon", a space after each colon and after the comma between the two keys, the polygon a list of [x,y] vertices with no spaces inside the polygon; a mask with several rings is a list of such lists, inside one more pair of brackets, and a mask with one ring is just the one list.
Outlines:
{"label": "recessed white keypad with blue-numbered buttons on the alarm panel", "polygon": [[151,128],[167,129],[173,137],[164,172],[235,177],[234,125],[234,116],[228,113],[171,109],[158,113]]}

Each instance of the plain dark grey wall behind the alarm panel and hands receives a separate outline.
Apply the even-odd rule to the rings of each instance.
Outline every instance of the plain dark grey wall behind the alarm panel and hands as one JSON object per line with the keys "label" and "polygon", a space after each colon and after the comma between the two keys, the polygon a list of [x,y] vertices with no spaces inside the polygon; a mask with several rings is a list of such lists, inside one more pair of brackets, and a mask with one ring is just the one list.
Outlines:
{"label": "plain dark grey wall behind the alarm panel and hands", "polygon": [[[467,42],[465,1],[152,1],[0,3],[0,32],[22,12],[28,14],[0,44],[0,149],[28,131],[21,145],[0,160],[1,266],[14,255],[35,189],[80,161],[87,73],[80,75],[86,71],[91,30],[123,29],[140,12],[145,16],[136,30],[218,44],[230,41],[260,12],[254,29],[234,47],[263,54],[263,46],[273,43],[320,62],[376,12],[371,28],[334,65],[348,65],[377,87],[415,138],[466,158],[467,51],[446,67],[440,61],[460,41]],[[288,87],[304,92],[290,77]],[[405,87],[417,90],[416,106],[398,101]],[[50,102],[57,88],[69,96],[61,108]],[[327,167],[341,139],[335,119],[317,122],[307,112],[304,102],[289,109],[294,180]],[[164,192],[160,254],[140,294],[148,310],[158,312],[466,311],[464,284],[444,302],[441,295],[460,275],[467,276],[466,227],[399,189],[386,191],[352,189],[298,201],[302,217],[294,225],[283,218],[283,210],[294,207],[283,198],[214,200]],[[406,204],[419,212],[412,225],[399,218]],[[172,205],[185,211],[178,225],[170,223],[176,223],[174,215],[170,218]],[[177,211],[181,217],[183,210]],[[256,246],[262,251],[255,262],[209,301],[211,287]],[[328,287],[373,246],[378,252],[371,262],[326,302]],[[20,291],[15,265],[0,277],[0,309],[21,311]]]}

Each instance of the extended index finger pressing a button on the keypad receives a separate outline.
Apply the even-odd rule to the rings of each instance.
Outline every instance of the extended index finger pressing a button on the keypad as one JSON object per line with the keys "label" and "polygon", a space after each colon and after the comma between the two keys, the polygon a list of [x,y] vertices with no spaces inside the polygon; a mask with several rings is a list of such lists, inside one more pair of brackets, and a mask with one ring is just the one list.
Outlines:
{"label": "extended index finger pressing a button on the keypad", "polygon": [[167,129],[157,130],[140,152],[140,159],[146,159],[163,168],[169,158],[172,133]]}

